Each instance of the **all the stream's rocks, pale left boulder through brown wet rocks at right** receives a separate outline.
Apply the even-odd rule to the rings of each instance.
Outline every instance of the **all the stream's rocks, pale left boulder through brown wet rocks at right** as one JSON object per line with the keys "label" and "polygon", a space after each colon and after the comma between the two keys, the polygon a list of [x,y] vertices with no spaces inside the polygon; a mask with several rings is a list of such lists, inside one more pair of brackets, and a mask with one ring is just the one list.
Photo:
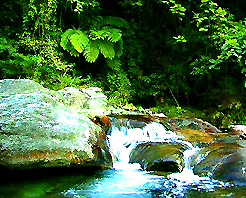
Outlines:
{"label": "all the stream's rocks, pale left boulder through brown wet rocks at right", "polygon": [[[198,148],[190,162],[195,174],[246,184],[244,126],[223,133],[196,118],[170,119],[113,108],[99,88],[51,91],[28,79],[1,80],[0,100],[0,166],[5,169],[111,168],[111,122],[118,128],[139,129],[157,122]],[[187,145],[180,142],[140,142],[130,162],[144,170],[181,172],[185,150]]]}

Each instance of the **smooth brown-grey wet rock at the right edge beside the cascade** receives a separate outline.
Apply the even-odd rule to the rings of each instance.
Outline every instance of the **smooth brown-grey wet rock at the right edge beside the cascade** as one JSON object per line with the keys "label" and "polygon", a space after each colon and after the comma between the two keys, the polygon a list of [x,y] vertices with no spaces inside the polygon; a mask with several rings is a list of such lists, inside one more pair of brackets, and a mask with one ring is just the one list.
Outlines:
{"label": "smooth brown-grey wet rock at the right edge beside the cascade", "polygon": [[246,184],[246,148],[244,141],[213,142],[198,155],[203,159],[194,167],[194,173],[210,176],[238,185]]}

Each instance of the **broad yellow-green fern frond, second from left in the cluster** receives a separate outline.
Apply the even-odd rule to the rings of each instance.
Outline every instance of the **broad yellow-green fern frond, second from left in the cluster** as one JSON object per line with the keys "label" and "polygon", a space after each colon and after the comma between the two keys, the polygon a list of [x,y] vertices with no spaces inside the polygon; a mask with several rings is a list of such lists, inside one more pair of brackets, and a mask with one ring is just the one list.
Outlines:
{"label": "broad yellow-green fern frond, second from left in the cluster", "polygon": [[70,41],[73,47],[79,52],[82,53],[85,47],[88,45],[89,38],[86,34],[81,31],[77,31],[75,34],[71,35]]}

